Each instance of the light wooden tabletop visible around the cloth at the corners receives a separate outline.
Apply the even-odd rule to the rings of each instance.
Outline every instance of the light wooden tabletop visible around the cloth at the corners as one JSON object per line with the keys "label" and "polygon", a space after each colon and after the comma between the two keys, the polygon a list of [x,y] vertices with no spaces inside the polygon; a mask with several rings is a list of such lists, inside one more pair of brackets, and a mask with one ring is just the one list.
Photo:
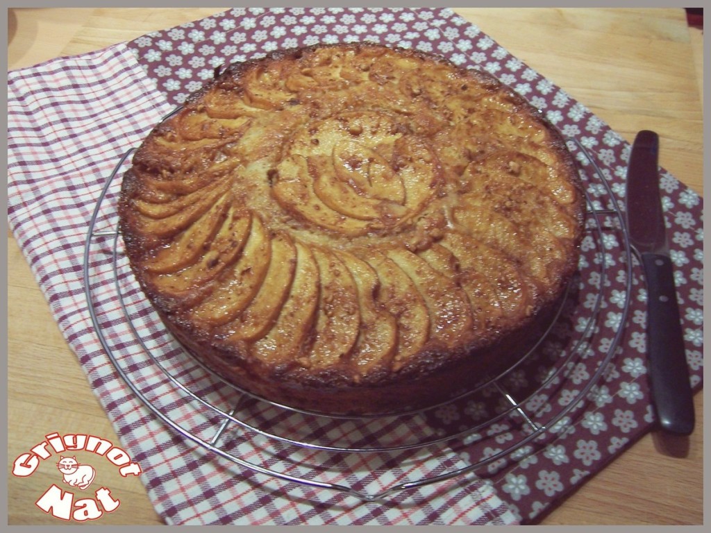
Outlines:
{"label": "light wooden tabletop visible around the cloth at the corners", "polygon": [[[9,9],[8,68],[128,41],[223,11]],[[653,129],[661,165],[702,193],[702,37],[683,9],[456,9],[628,141]],[[118,442],[8,232],[8,465],[52,431]],[[648,434],[544,524],[702,524],[702,394],[690,438]],[[60,524],[35,502],[57,475],[8,479],[9,524]],[[109,483],[111,485],[109,485]],[[161,524],[143,485],[107,481],[120,507],[97,524]]]}

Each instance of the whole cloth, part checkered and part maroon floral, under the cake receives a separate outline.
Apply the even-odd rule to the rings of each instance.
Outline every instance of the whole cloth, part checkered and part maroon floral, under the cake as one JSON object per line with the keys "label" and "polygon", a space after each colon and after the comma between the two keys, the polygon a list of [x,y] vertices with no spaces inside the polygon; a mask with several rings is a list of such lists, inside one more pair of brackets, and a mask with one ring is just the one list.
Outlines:
{"label": "whole cloth, part checkered and part maroon floral, under the cake", "polygon": [[[188,92],[200,87],[213,67],[287,45],[353,38],[433,51],[459,65],[495,73],[542,109],[564,134],[585,146],[597,158],[616,200],[624,200],[629,145],[584,105],[448,9],[234,9],[97,53],[9,72],[11,230],[124,448],[143,468],[142,480],[151,501],[171,524],[531,522],[653,426],[646,385],[646,291],[635,266],[632,294],[621,294],[613,286],[601,311],[601,329],[625,326],[625,335],[587,403],[574,418],[555,424],[547,438],[531,441],[508,456],[498,458],[515,438],[508,421],[479,428],[457,442],[438,443],[424,456],[417,450],[385,455],[314,451],[239,431],[234,425],[223,434],[215,433],[234,400],[193,362],[181,358],[181,350],[146,305],[127,271],[120,242],[112,240],[120,173],[107,180],[119,158],[137,146]],[[662,188],[690,377],[699,389],[702,200],[665,172]],[[93,219],[95,237],[85,277],[87,227],[102,193],[105,197]],[[599,185],[589,184],[588,193],[593,209],[607,207]],[[108,235],[99,235],[104,232]],[[604,246],[619,249],[615,236],[608,237],[603,239]],[[625,265],[616,264],[611,252],[598,257],[594,246],[587,237],[584,257],[592,262],[602,258],[609,263],[612,281],[621,283]],[[594,304],[594,293],[599,290],[596,280],[594,275],[582,280],[579,308],[583,312]],[[85,296],[85,282],[90,284],[91,302]],[[620,306],[626,296],[631,303],[629,322],[624,325],[619,323]],[[89,308],[97,313],[99,330]],[[569,327],[583,326],[573,321]],[[559,396],[534,394],[525,408],[543,415],[576,398],[579,384],[590,379],[599,354],[609,348],[609,337],[595,338],[590,352],[558,387]],[[180,375],[182,384],[210,399],[213,407],[186,399],[146,352],[158,353],[160,365]],[[510,385],[515,392],[516,387],[525,389],[525,375],[514,374]],[[152,409],[146,408],[132,387]],[[451,404],[425,421],[397,426],[402,434],[395,437],[407,441],[427,431],[454,434],[461,427],[476,426],[478,417],[490,416],[485,410],[486,406],[474,401]],[[170,424],[156,416],[156,411],[167,416]],[[298,416],[282,416],[272,408],[252,405],[245,412],[262,427],[278,426],[287,433],[346,431],[335,423],[314,427],[314,420],[306,420],[300,424]],[[186,439],[183,428],[208,446]],[[348,437],[358,442],[359,437],[390,436],[388,429],[385,425],[361,435],[355,428]],[[218,441],[211,447],[214,438]],[[245,468],[224,451],[259,468]],[[476,475],[458,475],[417,490],[394,492],[378,502],[361,502],[347,492],[289,480],[294,476],[374,494],[407,480],[467,470],[486,458],[492,460],[477,469]],[[278,470],[283,476],[265,475],[260,468]]]}

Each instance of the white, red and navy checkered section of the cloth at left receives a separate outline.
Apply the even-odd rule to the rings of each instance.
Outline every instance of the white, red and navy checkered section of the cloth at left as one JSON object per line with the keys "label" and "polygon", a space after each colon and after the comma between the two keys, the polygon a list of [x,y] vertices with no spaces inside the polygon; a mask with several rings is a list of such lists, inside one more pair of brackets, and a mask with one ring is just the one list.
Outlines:
{"label": "white, red and navy checkered section of the cloth at left", "polygon": [[[46,294],[51,311],[79,357],[124,447],[144,471],[156,510],[170,524],[511,524],[516,521],[491,483],[454,480],[398,495],[387,502],[360,502],[342,492],[276,480],[240,468],[183,438],[146,409],[107,357],[97,338],[85,296],[84,247],[97,198],[119,158],[171,110],[126,45],[64,58],[9,74],[9,205],[11,229]],[[115,196],[112,196],[115,198]],[[110,204],[110,202],[109,202]],[[115,206],[115,204],[114,204]],[[97,217],[101,225],[102,213]],[[102,227],[98,228],[99,230]],[[105,229],[105,227],[104,227]],[[108,258],[108,259],[107,259]],[[112,291],[109,254],[92,256],[90,276],[98,320],[129,371],[140,347],[126,331]],[[105,277],[102,277],[105,276]],[[137,296],[137,293],[127,297]],[[147,319],[146,319],[147,320]],[[155,328],[156,324],[146,326]],[[161,376],[149,369],[154,401],[173,416],[192,417],[207,431],[210,416],[186,410],[163,394]],[[168,391],[170,392],[170,391]],[[169,405],[175,402],[175,405]],[[184,412],[180,413],[183,409]],[[199,417],[205,416],[204,424]],[[245,443],[233,443],[246,446]],[[252,453],[253,446],[248,446]],[[242,454],[244,455],[244,453]],[[314,462],[317,453],[301,458]],[[377,461],[377,457],[376,460]],[[452,458],[464,465],[460,458]],[[383,466],[358,458],[358,468]],[[287,475],[298,474],[292,465]],[[428,473],[426,462],[412,468]],[[386,470],[397,480],[397,468]],[[343,475],[331,481],[343,481]],[[379,490],[382,479],[363,480]]]}

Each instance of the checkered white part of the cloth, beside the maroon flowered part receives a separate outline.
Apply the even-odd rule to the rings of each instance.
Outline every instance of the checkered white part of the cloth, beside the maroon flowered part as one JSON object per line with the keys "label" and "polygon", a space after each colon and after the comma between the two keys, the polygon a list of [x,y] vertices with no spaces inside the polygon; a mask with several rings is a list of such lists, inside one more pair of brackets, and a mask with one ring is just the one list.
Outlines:
{"label": "checkered white part of the cloth, beside the maroon flowered part", "polygon": [[[183,426],[209,441],[218,429],[218,417],[212,407],[186,402],[160,365],[146,359],[146,348],[151,352],[164,349],[165,367],[182,375],[188,387],[201,389],[213,405],[225,404],[227,410],[230,397],[214,383],[205,382],[204,372],[191,361],[171,352],[170,341],[164,339],[164,330],[129,274],[114,271],[110,234],[115,229],[120,176],[110,183],[100,204],[94,219],[96,240],[89,248],[91,306],[101,337],[97,335],[85,296],[87,228],[119,158],[137,146],[171,108],[126,45],[9,72],[11,229],[122,445],[141,465],[142,480],[159,514],[170,524],[517,522],[488,481],[460,477],[398,492],[380,502],[363,502],[346,492],[245,468],[185,438],[179,431]],[[103,232],[109,235],[99,235]],[[125,267],[120,253],[117,257],[119,269]],[[117,291],[122,298],[117,297]],[[126,313],[131,316],[130,323]],[[139,330],[139,340],[131,328]],[[177,428],[146,409],[119,376],[107,350],[132,384],[175,421]],[[280,420],[279,409],[252,415],[260,419],[262,427],[279,425],[287,434],[304,431],[296,426],[284,429],[285,423],[294,421]],[[341,425],[326,424],[310,429],[314,434],[326,434],[338,427]],[[284,476],[347,485],[368,494],[442,469],[439,459],[433,462],[417,453],[397,453],[391,457],[395,464],[390,464],[380,453],[333,454],[281,441],[272,443],[238,427],[220,438],[222,448],[250,464],[279,470]],[[438,446],[447,453],[446,446]],[[450,456],[449,467],[466,465],[456,454]]]}

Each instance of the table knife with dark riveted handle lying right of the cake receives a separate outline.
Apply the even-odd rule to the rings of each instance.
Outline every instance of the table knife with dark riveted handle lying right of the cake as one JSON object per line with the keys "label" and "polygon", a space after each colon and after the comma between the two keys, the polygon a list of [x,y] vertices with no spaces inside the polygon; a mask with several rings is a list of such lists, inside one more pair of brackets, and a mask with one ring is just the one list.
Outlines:
{"label": "table knife with dark riveted handle lying right of the cake", "polygon": [[627,231],[647,286],[652,402],[662,431],[689,435],[694,405],[659,190],[659,137],[640,131],[627,168]]}

